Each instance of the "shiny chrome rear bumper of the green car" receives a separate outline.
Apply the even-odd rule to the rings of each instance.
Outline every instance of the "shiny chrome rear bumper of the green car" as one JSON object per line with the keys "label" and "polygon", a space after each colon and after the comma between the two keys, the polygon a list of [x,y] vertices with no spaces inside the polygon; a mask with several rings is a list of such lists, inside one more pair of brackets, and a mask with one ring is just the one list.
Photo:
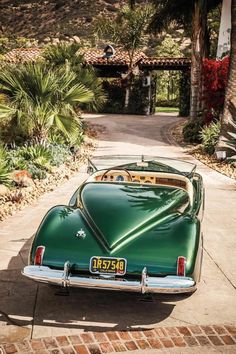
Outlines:
{"label": "shiny chrome rear bumper of the green car", "polygon": [[68,267],[55,270],[45,266],[26,266],[22,274],[38,282],[82,288],[105,290],[134,291],[141,293],[189,293],[196,289],[192,278],[169,275],[166,277],[150,277],[144,268],[141,280],[114,279],[106,276],[75,276],[68,273]]}

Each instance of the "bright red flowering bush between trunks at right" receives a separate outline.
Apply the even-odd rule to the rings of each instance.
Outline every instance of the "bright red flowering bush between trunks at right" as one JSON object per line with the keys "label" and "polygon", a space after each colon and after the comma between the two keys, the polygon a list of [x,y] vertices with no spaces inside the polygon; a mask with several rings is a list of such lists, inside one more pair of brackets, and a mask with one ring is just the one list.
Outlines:
{"label": "bright red flowering bush between trunks at right", "polygon": [[203,61],[203,100],[206,108],[203,118],[206,124],[219,119],[223,112],[228,68],[228,56],[222,60],[204,59]]}

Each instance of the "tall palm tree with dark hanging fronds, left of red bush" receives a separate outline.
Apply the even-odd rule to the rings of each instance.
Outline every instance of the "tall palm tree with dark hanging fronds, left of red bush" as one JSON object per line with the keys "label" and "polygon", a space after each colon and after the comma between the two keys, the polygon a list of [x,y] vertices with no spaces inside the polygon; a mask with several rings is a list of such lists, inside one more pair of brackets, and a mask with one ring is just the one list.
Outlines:
{"label": "tall palm tree with dark hanging fronds, left of red bush", "polygon": [[202,109],[202,59],[206,52],[207,14],[221,0],[153,0],[156,12],[150,29],[161,32],[171,23],[178,23],[192,39],[190,116],[197,118]]}

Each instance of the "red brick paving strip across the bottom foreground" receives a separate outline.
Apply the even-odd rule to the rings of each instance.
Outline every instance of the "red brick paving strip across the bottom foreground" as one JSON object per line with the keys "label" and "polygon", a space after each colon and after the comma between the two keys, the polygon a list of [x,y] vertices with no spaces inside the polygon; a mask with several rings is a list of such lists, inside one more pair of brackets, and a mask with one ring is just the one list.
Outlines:
{"label": "red brick paving strip across the bottom foreground", "polygon": [[[232,347],[233,346],[233,347]],[[102,354],[165,348],[235,348],[236,325],[157,327],[155,329],[82,332],[0,346],[1,354]],[[206,350],[206,348],[204,349]]]}

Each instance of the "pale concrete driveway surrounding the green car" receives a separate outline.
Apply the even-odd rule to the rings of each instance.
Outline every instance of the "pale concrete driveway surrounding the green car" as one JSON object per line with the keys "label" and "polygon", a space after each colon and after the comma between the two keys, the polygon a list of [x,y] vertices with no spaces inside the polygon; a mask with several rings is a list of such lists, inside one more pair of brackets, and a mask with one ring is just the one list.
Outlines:
{"label": "pale concrete driveway surrounding the green car", "polygon": [[[169,139],[175,116],[91,115],[86,121],[105,129],[95,154],[151,154],[192,160]],[[236,185],[197,162],[206,189],[202,280],[191,296],[142,296],[72,289],[56,294],[21,276],[42,216],[67,203],[86,178],[80,173],[57,190],[0,223],[0,343],[24,338],[159,326],[236,323]]]}

